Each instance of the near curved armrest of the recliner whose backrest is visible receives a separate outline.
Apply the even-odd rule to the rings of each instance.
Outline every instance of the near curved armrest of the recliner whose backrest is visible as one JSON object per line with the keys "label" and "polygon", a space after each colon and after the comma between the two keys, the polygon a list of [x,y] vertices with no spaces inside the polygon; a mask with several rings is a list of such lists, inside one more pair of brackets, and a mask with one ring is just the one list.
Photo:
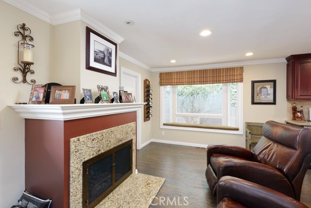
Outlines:
{"label": "near curved armrest of the recliner whose backrest is visible", "polygon": [[291,183],[281,172],[271,166],[252,161],[225,162],[216,171],[218,180],[222,176],[230,175],[295,198]]}

